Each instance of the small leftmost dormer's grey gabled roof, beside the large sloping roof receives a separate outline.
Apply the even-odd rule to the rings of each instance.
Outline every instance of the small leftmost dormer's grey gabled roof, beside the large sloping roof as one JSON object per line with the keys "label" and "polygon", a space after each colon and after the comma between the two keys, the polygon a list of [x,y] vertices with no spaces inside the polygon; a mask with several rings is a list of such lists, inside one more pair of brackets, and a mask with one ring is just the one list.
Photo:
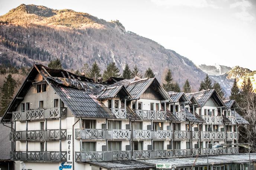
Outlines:
{"label": "small leftmost dormer's grey gabled roof, beside the large sloping roof", "polygon": [[98,95],[97,99],[106,99],[106,98],[113,98],[117,94],[121,94],[120,96],[128,96],[129,98],[132,98],[132,96],[129,94],[127,89],[122,86],[111,86],[104,88]]}

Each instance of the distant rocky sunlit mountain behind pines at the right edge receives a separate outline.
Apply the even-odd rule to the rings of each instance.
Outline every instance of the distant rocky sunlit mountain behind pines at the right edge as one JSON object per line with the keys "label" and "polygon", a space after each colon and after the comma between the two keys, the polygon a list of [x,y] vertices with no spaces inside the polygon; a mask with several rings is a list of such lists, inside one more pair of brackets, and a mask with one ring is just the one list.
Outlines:
{"label": "distant rocky sunlit mountain behind pines at the right edge", "polygon": [[234,79],[237,78],[237,85],[241,88],[244,79],[250,78],[253,85],[253,90],[256,92],[256,71],[251,71],[247,68],[242,68],[240,66],[233,67],[230,71],[225,73],[224,75],[214,76],[210,75],[210,77],[219,82],[223,90],[225,91],[225,96],[229,97],[231,88],[233,86]]}

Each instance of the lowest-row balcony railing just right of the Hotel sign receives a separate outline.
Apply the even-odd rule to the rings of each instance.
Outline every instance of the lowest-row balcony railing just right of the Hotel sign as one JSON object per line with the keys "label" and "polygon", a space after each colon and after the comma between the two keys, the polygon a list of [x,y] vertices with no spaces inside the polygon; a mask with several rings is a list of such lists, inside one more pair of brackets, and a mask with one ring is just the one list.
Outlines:
{"label": "lowest-row balcony railing just right of the Hotel sign", "polygon": [[91,152],[76,152],[76,161],[91,162],[91,161],[116,161],[130,160],[131,151],[91,151]]}

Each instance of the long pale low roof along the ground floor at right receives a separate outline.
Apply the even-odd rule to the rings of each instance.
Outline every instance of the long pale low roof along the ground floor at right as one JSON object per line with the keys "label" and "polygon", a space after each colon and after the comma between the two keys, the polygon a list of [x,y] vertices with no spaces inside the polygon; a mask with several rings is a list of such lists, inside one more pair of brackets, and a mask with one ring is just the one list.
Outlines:
{"label": "long pale low roof along the ground floor at right", "polygon": [[[251,153],[251,162],[256,161],[256,153]],[[156,167],[157,163],[172,164],[173,167],[188,167],[192,166],[196,157],[183,157],[183,158],[164,158],[164,159],[145,159],[137,160],[142,163],[152,164]],[[209,165],[214,164],[232,164],[232,163],[249,163],[249,154],[227,154],[208,156]],[[195,166],[207,165],[207,156],[200,156],[195,163]]]}

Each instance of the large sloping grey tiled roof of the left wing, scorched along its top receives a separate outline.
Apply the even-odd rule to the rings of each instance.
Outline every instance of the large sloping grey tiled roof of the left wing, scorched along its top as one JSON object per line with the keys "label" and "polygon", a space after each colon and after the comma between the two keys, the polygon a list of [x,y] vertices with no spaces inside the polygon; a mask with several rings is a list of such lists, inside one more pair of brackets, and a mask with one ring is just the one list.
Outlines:
{"label": "large sloping grey tiled roof of the left wing, scorched along its top", "polygon": [[75,117],[116,118],[112,111],[97,101],[93,94],[68,87],[54,87],[54,90]]}

